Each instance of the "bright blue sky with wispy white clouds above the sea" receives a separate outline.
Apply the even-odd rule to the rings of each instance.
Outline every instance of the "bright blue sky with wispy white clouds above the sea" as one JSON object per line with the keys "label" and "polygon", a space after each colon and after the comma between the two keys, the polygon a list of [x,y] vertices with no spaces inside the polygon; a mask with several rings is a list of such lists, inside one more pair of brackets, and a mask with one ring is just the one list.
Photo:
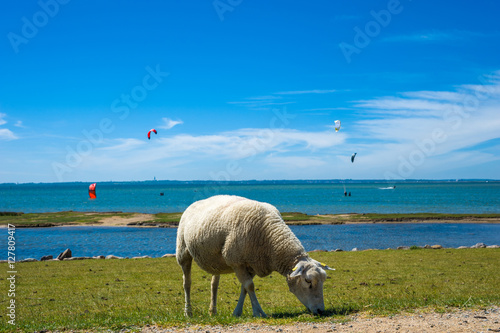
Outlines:
{"label": "bright blue sky with wispy white clouds above the sea", "polygon": [[7,2],[0,183],[500,179],[499,13],[497,1]]}

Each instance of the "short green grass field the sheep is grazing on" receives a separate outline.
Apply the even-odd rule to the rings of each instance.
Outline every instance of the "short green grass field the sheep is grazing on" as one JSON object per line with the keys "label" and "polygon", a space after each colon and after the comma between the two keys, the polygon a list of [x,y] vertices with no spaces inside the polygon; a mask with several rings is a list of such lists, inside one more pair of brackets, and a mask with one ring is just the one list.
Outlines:
{"label": "short green grass field the sheep is grazing on", "polygon": [[[255,278],[257,297],[268,319],[251,317],[247,299],[241,318],[232,311],[239,295],[234,274],[221,277],[217,316],[208,315],[211,276],[194,265],[194,317],[183,315],[182,273],[175,258],[84,260],[16,264],[16,329],[139,329],[162,326],[286,324],[343,321],[363,312],[385,315],[413,309],[500,304],[500,250],[382,250],[315,252],[336,271],[324,289],[327,315],[313,316],[288,291],[277,273]],[[6,274],[7,264],[0,264]],[[8,286],[1,284],[0,331],[10,332]]]}

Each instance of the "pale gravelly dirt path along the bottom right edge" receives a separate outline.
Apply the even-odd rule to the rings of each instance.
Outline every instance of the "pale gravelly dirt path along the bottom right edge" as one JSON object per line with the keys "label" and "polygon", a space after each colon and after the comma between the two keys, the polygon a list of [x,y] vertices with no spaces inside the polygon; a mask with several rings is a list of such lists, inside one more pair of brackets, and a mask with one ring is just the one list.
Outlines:
{"label": "pale gravelly dirt path along the bottom right edge", "polygon": [[239,324],[235,326],[191,326],[188,328],[144,327],[144,333],[166,332],[500,332],[500,308],[452,310],[448,313],[406,313],[389,317],[354,315],[345,323],[296,323],[290,325]]}

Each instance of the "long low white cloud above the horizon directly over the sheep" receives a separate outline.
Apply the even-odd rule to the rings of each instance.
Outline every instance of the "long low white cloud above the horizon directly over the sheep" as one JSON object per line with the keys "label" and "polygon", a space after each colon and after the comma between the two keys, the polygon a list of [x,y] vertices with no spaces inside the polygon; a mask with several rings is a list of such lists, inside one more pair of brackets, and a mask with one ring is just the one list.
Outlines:
{"label": "long low white cloud above the horizon directly over the sheep", "polygon": [[[199,167],[210,171],[217,168],[208,165],[224,165],[233,161],[242,164],[258,163],[263,168],[270,167],[272,174],[279,165],[287,162],[288,168],[293,168],[293,163],[301,168],[322,165],[322,157],[311,158],[309,155],[338,146],[343,140],[344,135],[336,135],[333,131],[266,128],[239,129],[213,135],[180,134],[158,138],[154,142],[118,139],[107,141],[104,143],[105,147],[95,149],[86,158],[82,168],[105,168],[120,170],[121,173],[127,170],[134,173],[140,169],[168,172],[174,168],[188,172],[187,170]],[[167,166],[171,169],[163,169]],[[160,171],[156,172],[157,175]]]}

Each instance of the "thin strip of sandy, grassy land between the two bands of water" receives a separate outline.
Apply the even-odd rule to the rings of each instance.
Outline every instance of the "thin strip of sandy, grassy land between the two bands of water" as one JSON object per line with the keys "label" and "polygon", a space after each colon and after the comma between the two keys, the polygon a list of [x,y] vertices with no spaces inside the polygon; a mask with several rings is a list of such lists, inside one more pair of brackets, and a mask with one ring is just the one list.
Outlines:
{"label": "thin strip of sandy, grassy land between the two bands of water", "polygon": [[[123,213],[123,212],[0,212],[0,227],[16,228],[56,226],[128,226],[177,227],[182,213]],[[281,213],[288,225],[389,224],[389,223],[500,223],[500,214],[324,214],[307,215],[297,212]]]}

